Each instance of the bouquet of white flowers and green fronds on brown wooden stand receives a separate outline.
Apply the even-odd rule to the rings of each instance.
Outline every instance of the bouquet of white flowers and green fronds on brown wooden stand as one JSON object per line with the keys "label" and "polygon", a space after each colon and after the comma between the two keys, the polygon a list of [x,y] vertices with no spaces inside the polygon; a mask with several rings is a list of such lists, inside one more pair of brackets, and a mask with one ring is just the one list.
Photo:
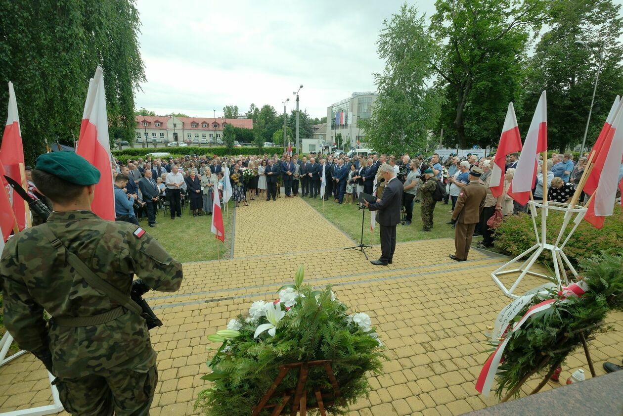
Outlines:
{"label": "bouquet of white flowers and green fronds on brown wooden stand", "polygon": [[[279,289],[273,302],[255,301],[247,316],[231,319],[227,329],[207,336],[222,342],[207,360],[211,373],[201,377],[214,382],[199,393],[196,407],[210,416],[250,415],[271,388],[280,366],[331,360],[331,370],[340,387],[340,400],[325,402],[330,414],[346,414],[348,404],[369,391],[368,372],[381,374],[381,359],[386,358],[383,344],[367,314],[348,314],[347,307],[335,298],[330,287],[315,291],[303,286],[303,266],[298,267],[295,284]],[[281,402],[283,394],[295,389],[298,371],[291,370],[281,380],[268,400]],[[309,367],[306,392],[308,407],[318,402],[313,394],[331,391],[331,382],[321,366]],[[282,414],[290,414],[287,402]]]}

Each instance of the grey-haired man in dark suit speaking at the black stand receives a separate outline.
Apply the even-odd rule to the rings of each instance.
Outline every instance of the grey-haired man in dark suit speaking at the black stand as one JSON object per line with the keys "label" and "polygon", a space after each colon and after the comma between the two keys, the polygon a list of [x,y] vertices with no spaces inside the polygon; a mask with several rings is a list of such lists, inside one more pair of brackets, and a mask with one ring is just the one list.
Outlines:
{"label": "grey-haired man in dark suit speaking at the black stand", "polygon": [[379,211],[376,222],[379,223],[381,232],[381,258],[370,263],[387,266],[392,263],[396,249],[396,225],[400,222],[402,183],[396,179],[394,168],[390,165],[381,165],[379,172],[386,183],[383,197],[377,199],[376,203],[364,203],[370,211]]}

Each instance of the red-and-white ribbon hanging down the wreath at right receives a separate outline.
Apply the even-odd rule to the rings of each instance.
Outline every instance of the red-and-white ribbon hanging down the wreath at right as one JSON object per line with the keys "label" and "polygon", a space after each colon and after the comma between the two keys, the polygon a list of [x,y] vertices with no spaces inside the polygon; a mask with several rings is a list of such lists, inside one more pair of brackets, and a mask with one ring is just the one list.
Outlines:
{"label": "red-and-white ribbon hanging down the wreath at right", "polygon": [[[558,296],[562,297],[575,297],[582,296],[588,290],[588,285],[585,281],[581,280],[578,283],[570,284],[569,286],[563,286],[563,290],[558,292]],[[480,370],[480,375],[478,375],[478,379],[476,380],[476,390],[478,393],[481,393],[485,396],[488,396],[491,392],[491,386],[493,385],[493,381],[495,380],[495,374],[497,374],[498,367],[500,366],[500,361],[502,360],[502,355],[504,353],[504,349],[506,348],[506,344],[510,341],[511,333],[520,329],[520,327],[528,321],[528,318],[533,316],[534,314],[545,311],[549,309],[552,304],[556,301],[556,299],[547,299],[546,301],[540,302],[528,309],[528,311],[521,318],[521,321],[517,322],[513,329],[508,331],[506,337],[502,344],[500,344],[493,354],[488,358],[485,365],[482,366],[482,370]],[[564,300],[563,300],[564,302]]]}

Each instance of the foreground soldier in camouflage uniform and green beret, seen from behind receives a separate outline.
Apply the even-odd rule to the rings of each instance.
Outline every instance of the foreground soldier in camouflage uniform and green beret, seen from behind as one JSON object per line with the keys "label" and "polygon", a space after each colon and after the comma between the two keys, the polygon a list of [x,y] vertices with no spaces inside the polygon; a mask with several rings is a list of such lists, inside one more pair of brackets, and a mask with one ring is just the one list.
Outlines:
{"label": "foreground soldier in camouflage uniform and green beret, seen from behind", "polygon": [[[135,274],[142,286],[178,290],[181,264],[141,228],[90,211],[100,172],[82,157],[47,153],[32,173],[54,212],[7,241],[0,260],[4,325],[57,377],[70,414],[148,415],[158,370],[145,319],[92,288],[67,263],[65,248],[128,296]],[[45,230],[65,247],[52,246]]]}

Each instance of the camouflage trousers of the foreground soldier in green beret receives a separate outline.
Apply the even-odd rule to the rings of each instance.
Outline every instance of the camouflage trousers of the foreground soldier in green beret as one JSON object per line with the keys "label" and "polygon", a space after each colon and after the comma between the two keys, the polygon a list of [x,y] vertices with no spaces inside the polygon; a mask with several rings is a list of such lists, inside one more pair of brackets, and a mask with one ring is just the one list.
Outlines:
{"label": "camouflage trousers of the foreground soldier in green beret", "polygon": [[150,414],[158,369],[156,364],[110,370],[78,379],[56,379],[60,401],[76,416],[143,416]]}

